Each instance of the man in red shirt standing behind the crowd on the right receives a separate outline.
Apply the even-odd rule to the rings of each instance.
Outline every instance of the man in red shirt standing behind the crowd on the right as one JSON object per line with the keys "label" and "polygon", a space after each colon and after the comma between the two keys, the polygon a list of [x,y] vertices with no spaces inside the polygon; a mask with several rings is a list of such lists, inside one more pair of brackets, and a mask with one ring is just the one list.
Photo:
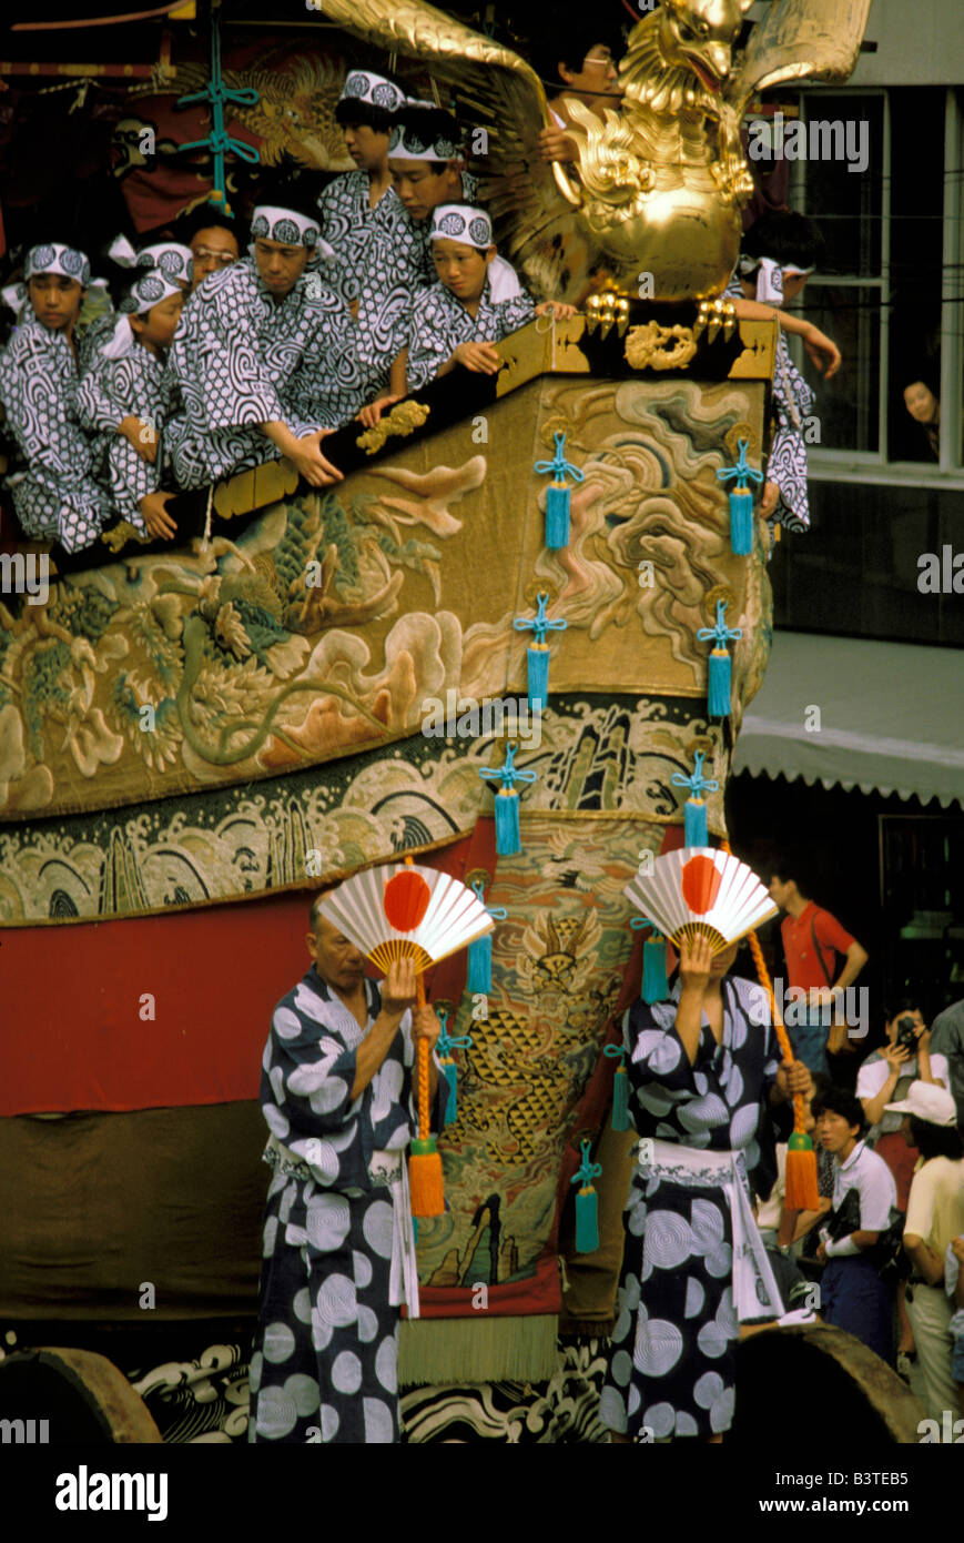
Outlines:
{"label": "man in red shirt standing behind the crowd on the right", "polygon": [[[808,1008],[794,1009],[796,1025],[787,1015],[787,1029],[799,1058],[810,1071],[827,1072],[827,1038],[831,1011],[867,963],[867,950],[831,917],[804,893],[794,869],[777,866],[770,880],[770,895],[787,915],[780,924],[787,986],[808,994]],[[834,980],[838,955],[844,967]]]}

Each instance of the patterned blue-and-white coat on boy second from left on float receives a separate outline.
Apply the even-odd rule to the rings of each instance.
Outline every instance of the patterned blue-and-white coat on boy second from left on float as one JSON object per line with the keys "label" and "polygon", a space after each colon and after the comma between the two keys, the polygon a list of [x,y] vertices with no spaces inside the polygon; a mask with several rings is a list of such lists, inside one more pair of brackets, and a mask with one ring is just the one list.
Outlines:
{"label": "patterned blue-and-white coat on boy second from left on float", "polygon": [[[111,333],[113,335],[113,333]],[[151,463],[137,454],[130,440],[117,434],[125,418],[139,418],[145,432],[162,435],[168,410],[163,360],[131,339],[126,353],[105,358],[97,353],[77,392],[80,423],[99,438],[99,454],[111,485],[114,512],[137,531],[147,531],[140,500],[157,492],[162,474],[162,444]]]}

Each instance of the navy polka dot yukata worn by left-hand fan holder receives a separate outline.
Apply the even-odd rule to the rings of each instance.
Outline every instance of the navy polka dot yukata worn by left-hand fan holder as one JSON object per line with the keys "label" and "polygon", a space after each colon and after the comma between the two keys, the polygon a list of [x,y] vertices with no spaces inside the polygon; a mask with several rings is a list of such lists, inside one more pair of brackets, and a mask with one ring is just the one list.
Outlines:
{"label": "navy polka dot yukata worn by left-hand fan holder", "polygon": [[[401,1253],[409,1312],[412,1214],[404,1173],[415,1125],[412,1018],[352,1100],[358,1046],[381,1011],[366,981],[362,1029],[312,967],[282,997],[264,1052],[261,1105],[271,1131],[250,1441],[398,1441]],[[447,1083],[433,1109],[441,1123]],[[404,1271],[403,1271],[404,1273]]]}

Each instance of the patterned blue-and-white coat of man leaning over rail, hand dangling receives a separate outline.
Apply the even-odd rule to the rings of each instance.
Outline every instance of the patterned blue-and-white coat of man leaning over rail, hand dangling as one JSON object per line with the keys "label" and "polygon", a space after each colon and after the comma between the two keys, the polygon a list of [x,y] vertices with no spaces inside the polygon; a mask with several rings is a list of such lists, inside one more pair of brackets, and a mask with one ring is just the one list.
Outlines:
{"label": "patterned blue-and-white coat of man leaning over rail, hand dangling", "polygon": [[364,401],[358,332],[344,299],[305,270],[279,301],[251,258],[211,273],[184,309],[168,389],[184,407],[167,443],[182,488],[276,458],[259,423],[302,438],[336,429]]}

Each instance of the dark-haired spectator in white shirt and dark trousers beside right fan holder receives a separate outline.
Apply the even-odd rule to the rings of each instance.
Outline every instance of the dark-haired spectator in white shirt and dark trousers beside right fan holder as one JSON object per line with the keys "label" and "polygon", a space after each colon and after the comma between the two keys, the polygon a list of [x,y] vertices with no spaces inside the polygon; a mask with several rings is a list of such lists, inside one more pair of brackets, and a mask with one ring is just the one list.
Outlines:
{"label": "dark-haired spectator in white shirt and dark trousers beside right fan holder", "polygon": [[893,1174],[862,1139],[864,1109],[853,1094],[831,1088],[813,1100],[817,1136],[836,1163],[831,1210],[821,1227],[817,1259],[821,1312],[881,1359],[893,1361],[893,1301],[881,1281],[881,1234],[892,1225]]}

